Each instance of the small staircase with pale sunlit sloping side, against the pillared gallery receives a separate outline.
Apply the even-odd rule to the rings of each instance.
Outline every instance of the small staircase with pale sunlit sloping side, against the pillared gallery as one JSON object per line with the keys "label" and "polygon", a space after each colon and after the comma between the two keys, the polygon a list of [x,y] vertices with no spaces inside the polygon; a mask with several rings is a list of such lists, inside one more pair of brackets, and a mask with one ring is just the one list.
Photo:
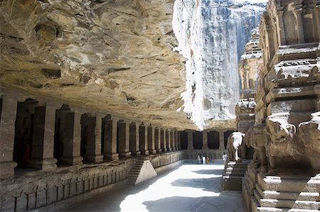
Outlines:
{"label": "small staircase with pale sunlit sloping side, against the pillared gallery", "polygon": [[137,185],[140,182],[145,181],[146,179],[150,179],[152,177],[156,177],[156,171],[152,166],[150,160],[144,160],[140,158],[137,160],[134,167],[130,170],[128,174],[127,184],[129,185]]}

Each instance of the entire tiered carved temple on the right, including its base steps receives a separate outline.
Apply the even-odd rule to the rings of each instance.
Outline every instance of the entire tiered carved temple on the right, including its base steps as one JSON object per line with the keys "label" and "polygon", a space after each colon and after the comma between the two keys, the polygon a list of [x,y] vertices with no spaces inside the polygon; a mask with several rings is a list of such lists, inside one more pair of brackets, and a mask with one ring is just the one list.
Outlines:
{"label": "entire tiered carved temple on the right, including its base steps", "polygon": [[319,209],[319,9],[319,1],[272,0],[262,16],[264,67],[245,135],[255,149],[242,183],[249,211]]}

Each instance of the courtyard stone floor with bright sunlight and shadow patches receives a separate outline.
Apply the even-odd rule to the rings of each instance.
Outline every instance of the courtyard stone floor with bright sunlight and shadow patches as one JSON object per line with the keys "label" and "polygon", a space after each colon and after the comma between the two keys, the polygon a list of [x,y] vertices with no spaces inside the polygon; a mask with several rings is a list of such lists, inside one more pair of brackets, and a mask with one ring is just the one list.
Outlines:
{"label": "courtyard stone floor with bright sunlight and shadow patches", "polygon": [[183,164],[137,186],[88,199],[65,211],[244,211],[238,192],[221,191],[223,165]]}

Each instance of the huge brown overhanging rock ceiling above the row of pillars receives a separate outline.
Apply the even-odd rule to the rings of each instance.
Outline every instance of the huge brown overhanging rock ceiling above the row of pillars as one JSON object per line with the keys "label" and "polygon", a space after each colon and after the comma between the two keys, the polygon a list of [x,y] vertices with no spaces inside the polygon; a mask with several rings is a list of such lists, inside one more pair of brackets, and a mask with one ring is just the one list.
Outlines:
{"label": "huge brown overhanging rock ceiling above the row of pillars", "polygon": [[185,68],[172,51],[173,9],[170,0],[1,1],[1,86],[196,128],[176,113]]}

